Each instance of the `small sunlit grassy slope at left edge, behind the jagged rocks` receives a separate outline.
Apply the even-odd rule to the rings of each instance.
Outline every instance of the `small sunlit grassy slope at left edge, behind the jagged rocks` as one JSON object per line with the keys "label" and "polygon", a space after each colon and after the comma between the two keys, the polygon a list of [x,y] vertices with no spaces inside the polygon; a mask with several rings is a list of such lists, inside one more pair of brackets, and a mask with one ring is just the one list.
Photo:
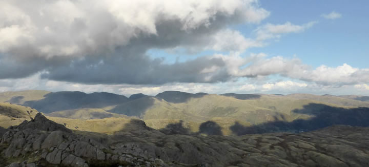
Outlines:
{"label": "small sunlit grassy slope at left edge, behind the jagged rocks", "polygon": [[30,107],[13,105],[8,102],[0,102],[0,127],[8,128],[30,120],[38,113]]}

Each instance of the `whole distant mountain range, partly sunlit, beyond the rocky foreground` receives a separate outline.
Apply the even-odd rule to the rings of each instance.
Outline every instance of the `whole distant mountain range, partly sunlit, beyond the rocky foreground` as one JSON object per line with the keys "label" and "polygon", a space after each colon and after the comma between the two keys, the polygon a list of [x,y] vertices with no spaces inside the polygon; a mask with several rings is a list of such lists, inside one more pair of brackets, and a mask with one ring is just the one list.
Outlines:
{"label": "whole distant mountain range, partly sunlit, beyond the rocky foreground", "polygon": [[[32,95],[32,91],[25,92],[25,98],[32,97],[35,100],[24,101],[21,105],[47,113],[53,119],[109,120],[127,118],[127,115],[140,118],[150,127],[168,133],[189,131],[209,134],[207,127],[211,126],[218,127],[222,135],[313,131],[334,124],[368,126],[365,121],[368,118],[369,102],[356,100],[358,96],[216,95],[166,91],[156,96],[134,94],[127,98],[105,92],[86,94],[34,91],[36,95]],[[8,101],[14,96],[22,96],[21,93],[8,92],[0,95],[3,100]],[[42,93],[47,94],[38,99]],[[94,131],[94,128],[91,129],[86,128]]]}

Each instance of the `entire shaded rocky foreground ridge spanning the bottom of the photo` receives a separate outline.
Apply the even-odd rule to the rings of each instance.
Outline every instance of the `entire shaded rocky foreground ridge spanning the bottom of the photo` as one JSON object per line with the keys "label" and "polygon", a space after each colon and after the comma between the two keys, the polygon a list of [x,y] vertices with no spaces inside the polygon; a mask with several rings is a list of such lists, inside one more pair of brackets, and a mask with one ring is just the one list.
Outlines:
{"label": "entire shaded rocky foreground ridge spanning the bottom of the photo", "polygon": [[0,131],[1,166],[369,166],[369,128],[301,134],[167,135],[133,120],[106,135],[37,114]]}

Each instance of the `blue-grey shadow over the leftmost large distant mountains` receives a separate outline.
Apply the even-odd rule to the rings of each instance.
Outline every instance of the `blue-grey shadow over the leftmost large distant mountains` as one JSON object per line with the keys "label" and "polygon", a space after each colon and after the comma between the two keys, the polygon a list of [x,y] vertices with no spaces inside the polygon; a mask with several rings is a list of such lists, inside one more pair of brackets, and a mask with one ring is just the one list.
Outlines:
{"label": "blue-grey shadow over the leftmost large distant mountains", "polygon": [[104,108],[127,102],[126,96],[113,93],[51,92],[44,99],[25,101],[23,106],[32,107],[43,113],[81,108]]}

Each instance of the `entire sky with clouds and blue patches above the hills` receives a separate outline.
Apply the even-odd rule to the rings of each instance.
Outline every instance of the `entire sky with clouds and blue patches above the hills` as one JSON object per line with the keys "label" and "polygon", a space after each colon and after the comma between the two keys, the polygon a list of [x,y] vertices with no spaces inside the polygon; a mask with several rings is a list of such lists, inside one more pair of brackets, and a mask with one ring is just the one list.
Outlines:
{"label": "entire sky with clouds and blue patches above the hills", "polygon": [[368,7],[0,0],[0,92],[369,95]]}

